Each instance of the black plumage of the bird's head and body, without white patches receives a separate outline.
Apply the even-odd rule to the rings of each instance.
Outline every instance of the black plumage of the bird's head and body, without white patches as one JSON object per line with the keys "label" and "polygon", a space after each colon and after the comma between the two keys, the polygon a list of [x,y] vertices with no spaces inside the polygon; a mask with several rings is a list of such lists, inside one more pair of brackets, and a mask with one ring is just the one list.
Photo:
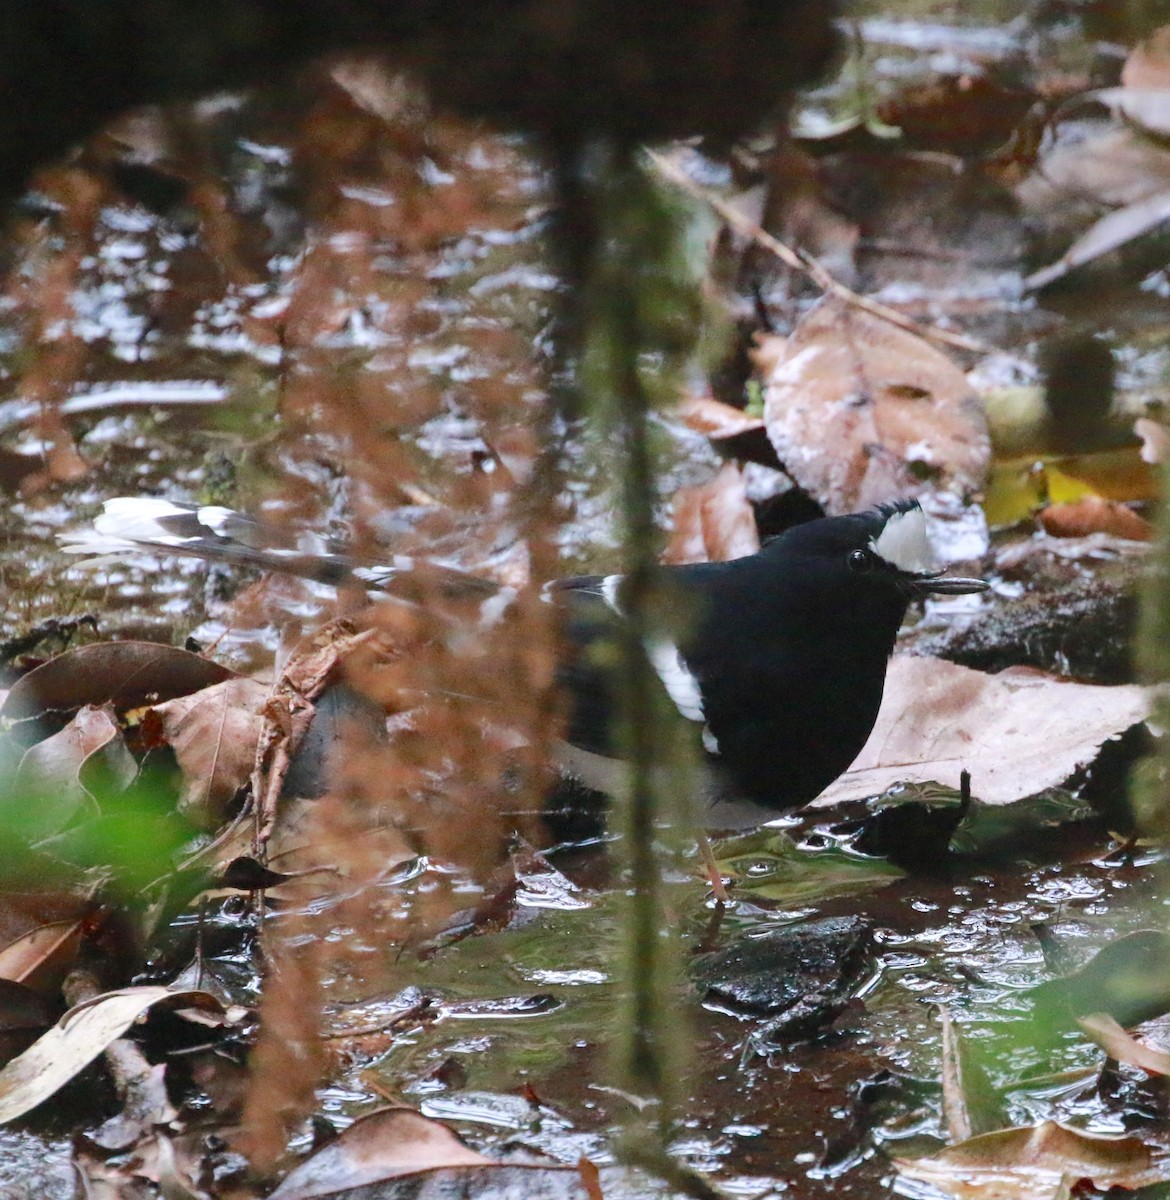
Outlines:
{"label": "black plumage of the bird's head and body, without white patches", "polygon": [[[865,744],[910,593],[880,559],[851,565],[888,512],[798,526],[728,563],[664,568],[690,618],[678,646],[702,694],[703,742],[742,796],[806,804]],[[614,748],[613,674],[596,646],[620,619],[600,578],[571,581],[569,740]],[[607,589],[614,598],[613,583]],[[620,594],[617,596],[620,606]]]}

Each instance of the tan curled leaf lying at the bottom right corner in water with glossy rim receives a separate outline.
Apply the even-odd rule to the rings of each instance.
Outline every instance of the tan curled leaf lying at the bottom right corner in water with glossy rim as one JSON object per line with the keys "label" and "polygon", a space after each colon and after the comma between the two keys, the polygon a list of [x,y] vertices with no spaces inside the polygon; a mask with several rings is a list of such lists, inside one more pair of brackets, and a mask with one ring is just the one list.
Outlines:
{"label": "tan curled leaf lying at the bottom right corner in water with glossy rim", "polygon": [[1140,1188],[1168,1177],[1136,1138],[1100,1138],[1045,1121],[998,1129],[926,1158],[896,1159],[901,1175],[964,1200],[1056,1200],[1062,1186],[1091,1180],[1105,1190]]}

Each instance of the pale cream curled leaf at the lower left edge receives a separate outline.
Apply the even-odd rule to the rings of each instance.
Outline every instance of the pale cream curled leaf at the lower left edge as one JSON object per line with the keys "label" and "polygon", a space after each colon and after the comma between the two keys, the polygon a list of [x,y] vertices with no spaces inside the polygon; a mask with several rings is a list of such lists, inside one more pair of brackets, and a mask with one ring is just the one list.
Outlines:
{"label": "pale cream curled leaf at the lower left edge", "polygon": [[124,988],[77,1004],[0,1070],[0,1124],[47,1100],[158,1003],[222,1010],[209,992],[169,988]]}

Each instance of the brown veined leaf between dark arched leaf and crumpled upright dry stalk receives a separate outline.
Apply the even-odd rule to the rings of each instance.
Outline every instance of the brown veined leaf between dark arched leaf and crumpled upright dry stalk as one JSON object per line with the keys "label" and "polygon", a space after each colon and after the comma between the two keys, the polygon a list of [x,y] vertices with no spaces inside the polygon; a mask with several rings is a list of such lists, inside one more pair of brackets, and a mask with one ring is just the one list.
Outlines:
{"label": "brown veined leaf between dark arched leaf and crumpled upright dry stalk", "polygon": [[248,781],[268,695],[254,679],[224,679],[151,709],[182,770],[185,808],[216,820]]}

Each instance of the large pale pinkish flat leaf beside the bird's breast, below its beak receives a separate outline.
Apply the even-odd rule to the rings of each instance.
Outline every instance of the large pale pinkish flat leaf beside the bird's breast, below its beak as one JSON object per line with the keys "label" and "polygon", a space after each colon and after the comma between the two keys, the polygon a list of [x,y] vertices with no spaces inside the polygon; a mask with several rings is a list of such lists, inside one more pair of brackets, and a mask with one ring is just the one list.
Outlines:
{"label": "large pale pinkish flat leaf beside the bird's breast, below its beak", "polygon": [[1144,721],[1147,689],[1070,683],[1028,670],[984,674],[941,659],[895,656],[877,724],[818,805],[877,796],[895,784],[960,786],[1012,804],[1063,784],[1102,744]]}

